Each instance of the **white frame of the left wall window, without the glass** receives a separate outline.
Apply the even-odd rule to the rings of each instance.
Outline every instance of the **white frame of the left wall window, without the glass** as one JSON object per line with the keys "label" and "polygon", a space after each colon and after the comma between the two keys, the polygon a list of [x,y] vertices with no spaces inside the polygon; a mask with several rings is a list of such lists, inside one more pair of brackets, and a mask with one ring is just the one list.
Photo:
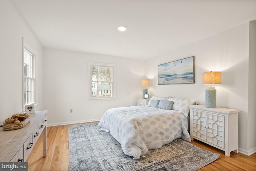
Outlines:
{"label": "white frame of the left wall window, without the glass", "polygon": [[[24,61],[24,51],[27,51],[29,54],[31,54],[33,57],[32,57],[32,59],[33,59],[33,61],[32,61],[32,78],[30,78],[30,77],[26,77],[26,76],[24,76],[24,64],[25,64],[25,61]],[[28,44],[26,44],[26,42],[23,42],[23,55],[22,55],[22,57],[23,57],[23,63],[22,63],[22,68],[23,68],[23,72],[22,72],[22,76],[23,76],[23,84],[22,84],[22,107],[23,107],[23,109],[24,109],[24,105],[37,105],[37,88],[36,88],[36,82],[37,82],[37,80],[36,80],[36,52],[28,45]],[[25,87],[24,87],[24,80],[25,79],[32,79],[32,80],[34,80],[34,100],[33,100],[33,102],[30,102],[30,103],[26,103],[26,101],[24,101],[24,93],[25,93]]]}

